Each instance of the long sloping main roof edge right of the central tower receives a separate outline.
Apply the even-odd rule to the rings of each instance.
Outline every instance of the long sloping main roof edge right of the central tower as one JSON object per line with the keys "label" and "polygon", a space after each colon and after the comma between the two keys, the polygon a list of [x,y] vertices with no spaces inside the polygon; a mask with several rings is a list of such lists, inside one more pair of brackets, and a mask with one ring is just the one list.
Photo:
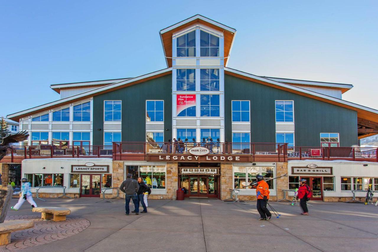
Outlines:
{"label": "long sloping main roof edge right of the central tower", "polygon": [[253,75],[250,73],[245,73],[242,71],[238,71],[232,68],[225,67],[225,74],[236,76],[242,79],[247,79],[249,81],[254,81],[263,85],[271,86],[277,89],[282,89],[291,93],[297,93],[299,95],[304,95],[310,98],[314,98],[316,100],[324,101],[326,103],[335,104],[340,107],[345,107],[347,109],[352,109],[357,111],[358,117],[378,122],[378,110],[365,107],[362,105],[358,105],[352,103],[350,101],[341,100],[335,98],[333,96],[324,95],[321,93],[313,92],[307,89],[302,89],[301,87],[292,86],[290,84],[286,84],[283,82],[273,81],[268,78],[264,78],[261,76]]}

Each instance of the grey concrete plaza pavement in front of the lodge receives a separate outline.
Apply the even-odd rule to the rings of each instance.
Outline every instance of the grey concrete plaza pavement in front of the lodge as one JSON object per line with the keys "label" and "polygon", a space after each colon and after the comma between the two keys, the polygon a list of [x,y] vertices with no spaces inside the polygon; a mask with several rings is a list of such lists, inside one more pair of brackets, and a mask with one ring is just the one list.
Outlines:
{"label": "grey concrete plaza pavement in front of the lodge", "polygon": [[[90,226],[70,237],[22,251],[376,251],[378,207],[310,202],[300,215],[291,202],[270,202],[281,214],[258,221],[256,202],[227,204],[218,199],[149,200],[148,213],[125,215],[124,200],[36,199],[39,206],[71,209]],[[12,205],[17,199],[12,199]],[[130,209],[134,207],[130,204]],[[142,210],[142,208],[141,208]],[[8,216],[34,215],[25,202]],[[0,251],[1,251],[0,247]]]}

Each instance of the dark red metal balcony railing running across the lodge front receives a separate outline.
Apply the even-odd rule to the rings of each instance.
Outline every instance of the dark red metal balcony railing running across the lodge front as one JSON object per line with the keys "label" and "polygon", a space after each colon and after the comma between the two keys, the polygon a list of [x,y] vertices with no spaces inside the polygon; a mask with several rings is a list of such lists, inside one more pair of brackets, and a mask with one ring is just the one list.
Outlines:
{"label": "dark red metal balcony railing running across the lodge front", "polygon": [[31,158],[52,157],[117,157],[147,154],[189,154],[193,147],[209,149],[209,154],[278,157],[278,160],[366,160],[378,162],[378,148],[366,147],[290,147],[286,143],[191,143],[191,142],[114,142],[112,146],[12,146],[2,162],[20,162]]}

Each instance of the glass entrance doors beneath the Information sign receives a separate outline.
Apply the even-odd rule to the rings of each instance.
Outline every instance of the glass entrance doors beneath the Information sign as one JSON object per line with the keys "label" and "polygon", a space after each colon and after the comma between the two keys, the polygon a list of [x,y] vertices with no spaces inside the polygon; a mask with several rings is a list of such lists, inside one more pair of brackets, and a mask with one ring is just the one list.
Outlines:
{"label": "glass entrance doors beneath the Information sign", "polygon": [[189,197],[216,197],[217,181],[214,176],[190,176]]}

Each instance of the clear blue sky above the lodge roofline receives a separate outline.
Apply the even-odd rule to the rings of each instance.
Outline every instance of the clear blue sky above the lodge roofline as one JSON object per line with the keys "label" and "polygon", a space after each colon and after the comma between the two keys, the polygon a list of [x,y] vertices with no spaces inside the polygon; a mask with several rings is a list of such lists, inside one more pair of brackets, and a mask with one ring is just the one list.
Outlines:
{"label": "clear blue sky above the lodge roofline", "polygon": [[237,30],[228,67],[353,84],[378,109],[378,1],[1,1],[0,116],[50,101],[50,84],[166,68],[158,31],[195,14]]}

